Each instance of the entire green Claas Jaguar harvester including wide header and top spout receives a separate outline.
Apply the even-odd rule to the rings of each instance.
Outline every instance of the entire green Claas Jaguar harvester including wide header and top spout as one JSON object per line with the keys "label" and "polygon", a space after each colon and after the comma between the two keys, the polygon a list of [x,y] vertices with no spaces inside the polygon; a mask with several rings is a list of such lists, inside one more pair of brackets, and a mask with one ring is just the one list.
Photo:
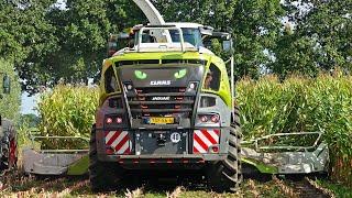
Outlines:
{"label": "entire green Claas Jaguar harvester including wide header and top spout", "polygon": [[[208,187],[223,191],[237,189],[242,174],[327,172],[329,151],[320,131],[241,141],[230,34],[197,23],[165,23],[148,0],[133,1],[150,24],[110,36],[90,140],[31,132],[32,146],[22,155],[25,173],[88,172],[94,191],[131,180],[130,173],[185,172],[193,178],[201,173]],[[208,50],[212,43],[230,55],[227,64]],[[87,144],[43,146],[48,140]]]}

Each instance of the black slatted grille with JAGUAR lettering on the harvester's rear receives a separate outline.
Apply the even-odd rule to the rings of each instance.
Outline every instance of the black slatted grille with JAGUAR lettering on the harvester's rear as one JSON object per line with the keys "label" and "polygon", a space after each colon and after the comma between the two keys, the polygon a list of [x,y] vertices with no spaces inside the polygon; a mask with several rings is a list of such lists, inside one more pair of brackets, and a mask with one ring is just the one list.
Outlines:
{"label": "black slatted grille with JAGUAR lettering on the harvester's rear", "polygon": [[186,87],[144,87],[127,94],[128,106],[133,119],[147,117],[174,117],[176,120],[190,119],[196,92]]}

